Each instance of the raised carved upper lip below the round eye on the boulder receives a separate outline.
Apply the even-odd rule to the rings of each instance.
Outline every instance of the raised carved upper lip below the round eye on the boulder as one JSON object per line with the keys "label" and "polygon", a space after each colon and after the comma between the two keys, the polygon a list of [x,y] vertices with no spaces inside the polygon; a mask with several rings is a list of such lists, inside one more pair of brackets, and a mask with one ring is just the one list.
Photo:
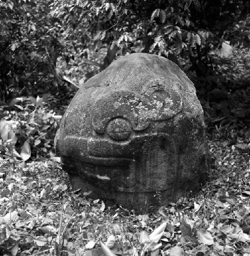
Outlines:
{"label": "raised carved upper lip below the round eye on the boulder", "polygon": [[168,138],[167,134],[144,134],[128,141],[106,138],[66,136],[62,155],[71,156],[87,164],[100,166],[127,165],[141,156],[143,147],[156,138]]}

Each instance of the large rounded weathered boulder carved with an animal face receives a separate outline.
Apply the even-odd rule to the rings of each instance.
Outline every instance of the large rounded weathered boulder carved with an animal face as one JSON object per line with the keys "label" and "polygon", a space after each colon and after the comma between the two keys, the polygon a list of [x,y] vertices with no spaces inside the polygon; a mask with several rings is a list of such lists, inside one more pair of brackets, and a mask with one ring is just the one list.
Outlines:
{"label": "large rounded weathered boulder carved with an animal face", "polygon": [[73,189],[129,208],[176,200],[207,173],[195,88],[156,55],[120,57],[81,86],[55,145]]}

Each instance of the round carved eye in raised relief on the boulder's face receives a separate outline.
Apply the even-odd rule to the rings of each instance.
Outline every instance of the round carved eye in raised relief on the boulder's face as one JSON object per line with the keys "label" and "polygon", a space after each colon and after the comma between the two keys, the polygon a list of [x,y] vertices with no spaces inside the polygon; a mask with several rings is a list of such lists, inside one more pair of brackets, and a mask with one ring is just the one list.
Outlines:
{"label": "round carved eye in raised relief on the boulder's face", "polygon": [[130,123],[122,117],[112,119],[107,125],[107,133],[114,140],[126,140],[131,134]]}

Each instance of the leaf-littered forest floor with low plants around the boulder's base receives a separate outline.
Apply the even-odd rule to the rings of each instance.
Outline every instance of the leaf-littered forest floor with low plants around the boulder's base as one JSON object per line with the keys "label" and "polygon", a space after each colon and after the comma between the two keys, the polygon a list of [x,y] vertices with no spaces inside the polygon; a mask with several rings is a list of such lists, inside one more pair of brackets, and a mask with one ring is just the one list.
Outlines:
{"label": "leaf-littered forest floor with low plants around the boulder's base", "polygon": [[18,134],[0,144],[0,255],[250,255],[249,129],[211,130],[207,183],[136,215],[70,191],[51,151],[60,116],[35,100],[0,107]]}

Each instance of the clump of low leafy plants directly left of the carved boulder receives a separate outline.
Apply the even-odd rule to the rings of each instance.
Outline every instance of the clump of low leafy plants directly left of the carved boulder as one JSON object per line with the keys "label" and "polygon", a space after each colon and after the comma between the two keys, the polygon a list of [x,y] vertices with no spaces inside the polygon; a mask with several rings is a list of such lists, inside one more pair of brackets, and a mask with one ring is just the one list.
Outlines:
{"label": "clump of low leafy plants directly left of the carved boulder", "polygon": [[0,120],[0,147],[5,158],[27,161],[36,154],[49,156],[61,115],[47,110],[44,99],[48,96],[17,98],[14,111],[3,108],[6,115]]}

